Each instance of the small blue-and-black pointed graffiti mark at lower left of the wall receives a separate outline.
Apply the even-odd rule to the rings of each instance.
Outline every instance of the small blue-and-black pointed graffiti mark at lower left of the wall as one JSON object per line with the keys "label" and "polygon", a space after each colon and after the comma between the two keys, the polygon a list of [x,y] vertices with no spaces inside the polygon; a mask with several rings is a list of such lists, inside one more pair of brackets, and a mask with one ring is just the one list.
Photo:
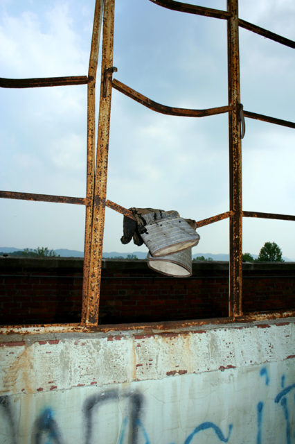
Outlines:
{"label": "small blue-and-black pointed graffiti mark at lower left of the wall", "polygon": [[44,435],[46,444],[63,444],[57,422],[53,419],[53,410],[50,408],[44,409],[35,420],[33,432],[35,444],[41,444]]}

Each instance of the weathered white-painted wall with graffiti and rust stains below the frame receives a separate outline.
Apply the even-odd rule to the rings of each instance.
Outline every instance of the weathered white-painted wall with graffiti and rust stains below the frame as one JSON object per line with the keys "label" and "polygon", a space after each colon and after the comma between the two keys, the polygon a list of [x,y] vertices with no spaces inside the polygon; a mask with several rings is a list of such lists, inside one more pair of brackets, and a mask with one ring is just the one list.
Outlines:
{"label": "weathered white-painted wall with graffiti and rust stains below the frame", "polygon": [[291,444],[294,323],[1,336],[0,443]]}

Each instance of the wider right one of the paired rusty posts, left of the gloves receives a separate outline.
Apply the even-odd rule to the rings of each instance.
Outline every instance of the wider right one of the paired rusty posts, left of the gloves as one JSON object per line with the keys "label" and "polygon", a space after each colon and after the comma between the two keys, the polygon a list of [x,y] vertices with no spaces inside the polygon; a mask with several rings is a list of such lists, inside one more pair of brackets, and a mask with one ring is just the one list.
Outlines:
{"label": "wider right one of the paired rusty posts, left of the gloves", "polygon": [[100,110],[98,117],[98,143],[96,151],[96,177],[94,184],[91,258],[89,268],[87,305],[84,307],[85,325],[98,325],[101,260],[105,225],[105,198],[107,194],[107,161],[109,149],[109,119],[111,114],[111,79],[103,94],[105,70],[113,65],[114,0],[105,0],[102,34],[102,71],[100,82]]}

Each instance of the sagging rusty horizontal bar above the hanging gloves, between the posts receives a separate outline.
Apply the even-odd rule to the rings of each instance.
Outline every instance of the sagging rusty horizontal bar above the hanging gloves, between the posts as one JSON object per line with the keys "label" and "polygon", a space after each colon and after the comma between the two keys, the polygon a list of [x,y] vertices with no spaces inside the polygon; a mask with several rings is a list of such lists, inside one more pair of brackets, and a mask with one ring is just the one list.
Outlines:
{"label": "sagging rusty horizontal bar above the hanging gloves, between the posts", "polygon": [[128,87],[124,83],[121,83],[119,80],[114,78],[112,82],[113,88],[117,89],[117,91],[122,92],[125,96],[130,97],[130,99],[135,100],[141,105],[150,108],[150,110],[161,112],[161,114],[169,114],[171,116],[182,116],[182,117],[206,117],[213,116],[215,114],[222,114],[224,112],[228,112],[231,108],[226,106],[220,106],[218,108],[208,108],[207,110],[190,110],[186,108],[175,108],[166,105],[161,105],[161,103],[157,103],[148,99],[143,94],[135,91],[134,89]]}

